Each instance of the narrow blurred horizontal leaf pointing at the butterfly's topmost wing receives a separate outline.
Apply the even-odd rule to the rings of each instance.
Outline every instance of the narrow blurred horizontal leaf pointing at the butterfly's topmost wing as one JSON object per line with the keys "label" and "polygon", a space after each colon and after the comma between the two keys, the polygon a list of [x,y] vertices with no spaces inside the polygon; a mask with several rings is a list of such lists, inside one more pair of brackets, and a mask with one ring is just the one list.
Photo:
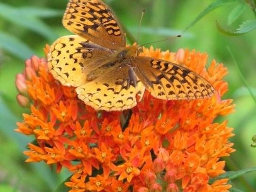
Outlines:
{"label": "narrow blurred horizontal leaf pointing at the butterfly's topmost wing", "polygon": [[29,16],[38,16],[38,17],[53,17],[53,16],[62,16],[64,11],[54,10],[48,8],[39,8],[39,7],[20,7],[18,8],[20,14],[27,14]]}

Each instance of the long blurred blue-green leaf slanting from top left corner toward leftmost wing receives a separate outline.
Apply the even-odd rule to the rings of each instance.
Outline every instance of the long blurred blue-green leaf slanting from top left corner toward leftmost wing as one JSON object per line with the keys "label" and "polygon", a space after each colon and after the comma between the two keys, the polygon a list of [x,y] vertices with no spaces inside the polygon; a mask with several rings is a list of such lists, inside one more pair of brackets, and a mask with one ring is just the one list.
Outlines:
{"label": "long blurred blue-green leaf slanting from top left corner toward leftmost wing", "polygon": [[20,13],[18,8],[0,3],[0,16],[16,25],[39,33],[50,41],[58,37],[43,21],[27,13]]}

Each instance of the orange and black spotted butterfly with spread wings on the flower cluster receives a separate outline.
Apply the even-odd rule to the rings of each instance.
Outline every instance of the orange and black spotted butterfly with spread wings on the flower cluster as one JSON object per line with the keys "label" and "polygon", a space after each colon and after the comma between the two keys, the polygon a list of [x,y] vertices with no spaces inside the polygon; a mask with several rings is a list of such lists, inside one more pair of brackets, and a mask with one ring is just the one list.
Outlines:
{"label": "orange and black spotted butterfly with spread wings on the flower cluster", "polygon": [[95,110],[123,111],[137,104],[144,90],[159,99],[210,97],[212,85],[192,70],[171,62],[139,56],[126,47],[126,37],[112,10],[101,0],[70,0],[62,36],[50,47],[48,69],[63,85]]}

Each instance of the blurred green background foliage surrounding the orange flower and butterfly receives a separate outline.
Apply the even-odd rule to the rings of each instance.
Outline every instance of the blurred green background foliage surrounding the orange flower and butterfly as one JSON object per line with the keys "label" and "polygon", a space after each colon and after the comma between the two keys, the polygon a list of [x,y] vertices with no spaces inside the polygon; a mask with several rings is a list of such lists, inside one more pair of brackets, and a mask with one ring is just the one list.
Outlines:
{"label": "blurred green background foliage surrounding the orange flower and butterfly", "polygon": [[[230,0],[229,0],[230,1]],[[213,0],[105,0],[112,7],[126,32],[136,38],[140,16],[145,9],[139,44],[176,36]],[[255,2],[255,1],[254,1]],[[44,57],[45,44],[59,36],[70,34],[61,24],[67,0],[1,0],[0,1],[0,192],[51,192],[69,176],[51,173],[45,163],[25,163],[26,144],[32,140],[14,132],[22,113],[28,112],[16,102],[15,76],[24,69],[24,60],[32,54]],[[217,20],[224,29],[234,30],[246,20],[256,19],[252,9],[243,1],[233,0],[218,7],[192,25],[181,38],[154,44],[154,48],[195,49],[207,52],[208,63],[216,59],[224,63],[229,74],[225,80],[229,91],[225,98],[233,98],[236,112],[228,117],[229,127],[236,134],[230,141],[237,150],[227,161],[226,170],[240,170],[256,166],[256,148],[252,136],[256,134],[256,103],[250,96],[232,60],[231,49],[241,72],[256,95],[256,31],[240,36],[227,36],[218,31]],[[234,11],[234,9],[242,11]],[[231,23],[230,13],[239,16]],[[233,16],[233,19],[235,17]],[[231,20],[230,20],[231,19]],[[231,24],[230,24],[231,23]],[[256,192],[256,173],[249,173],[232,181],[235,188]]]}

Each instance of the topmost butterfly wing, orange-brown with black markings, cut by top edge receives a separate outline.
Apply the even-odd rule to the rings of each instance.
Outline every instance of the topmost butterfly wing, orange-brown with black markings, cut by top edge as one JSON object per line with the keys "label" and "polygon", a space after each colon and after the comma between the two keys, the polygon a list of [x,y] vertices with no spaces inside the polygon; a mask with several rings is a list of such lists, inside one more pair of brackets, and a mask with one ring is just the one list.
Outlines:
{"label": "topmost butterfly wing, orange-brown with black markings, cut by top edge", "polygon": [[66,29],[109,49],[126,46],[123,30],[101,0],[70,0],[64,17]]}

